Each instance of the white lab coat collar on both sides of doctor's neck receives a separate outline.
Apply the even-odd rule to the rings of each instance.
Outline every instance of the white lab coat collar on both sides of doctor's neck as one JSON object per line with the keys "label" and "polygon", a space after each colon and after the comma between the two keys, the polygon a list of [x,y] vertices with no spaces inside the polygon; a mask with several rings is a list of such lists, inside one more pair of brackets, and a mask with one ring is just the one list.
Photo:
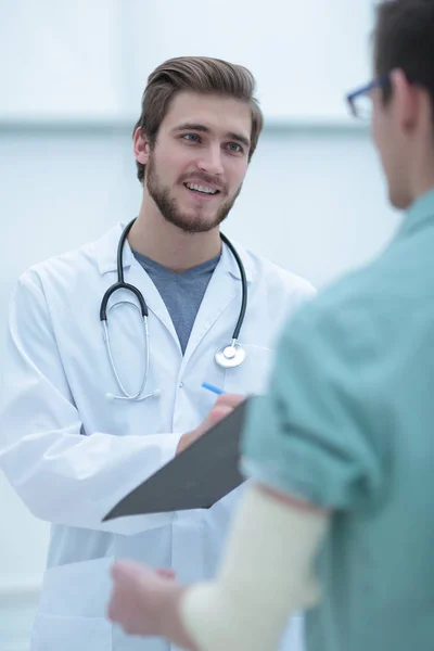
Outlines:
{"label": "white lab coat collar on both sides of doctor's neck", "polygon": [[[98,267],[100,269],[100,273],[107,273],[108,271],[116,271],[117,269],[117,246],[119,243],[119,238],[125,228],[124,224],[116,224],[107,233],[105,233],[100,240],[94,243],[94,252],[97,256]],[[233,243],[241,261],[243,263],[245,276],[247,282],[252,281],[253,269],[252,269],[252,258],[250,254],[238,243]],[[133,253],[128,244],[128,240],[125,242],[124,246],[124,255],[123,255],[123,267],[127,269],[135,261]],[[227,271],[241,280],[241,273],[239,266],[237,264],[235,258],[229,251],[229,248],[224,244],[221,257],[218,266],[222,266]]]}

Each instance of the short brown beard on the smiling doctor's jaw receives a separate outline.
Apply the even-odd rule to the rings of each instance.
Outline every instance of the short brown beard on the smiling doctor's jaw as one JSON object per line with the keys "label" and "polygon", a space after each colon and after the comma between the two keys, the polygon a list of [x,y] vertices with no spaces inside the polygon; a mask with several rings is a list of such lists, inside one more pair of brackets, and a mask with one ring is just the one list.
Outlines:
{"label": "short brown beard on the smiling doctor's jaw", "polygon": [[[204,182],[206,182],[206,179],[204,179]],[[227,199],[217,208],[214,217],[208,216],[202,218],[200,215],[184,215],[179,209],[176,199],[170,196],[169,188],[165,187],[161,181],[156,170],[154,155],[151,154],[146,164],[146,188],[166,221],[178,227],[186,233],[205,233],[219,226],[227,218],[241,192],[242,184],[233,196]]]}

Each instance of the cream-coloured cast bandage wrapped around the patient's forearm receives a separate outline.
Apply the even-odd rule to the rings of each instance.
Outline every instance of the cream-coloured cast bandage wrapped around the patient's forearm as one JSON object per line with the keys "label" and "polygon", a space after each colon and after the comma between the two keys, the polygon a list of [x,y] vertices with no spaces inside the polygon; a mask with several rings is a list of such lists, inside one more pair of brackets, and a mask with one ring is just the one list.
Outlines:
{"label": "cream-coloured cast bandage wrapped around the patient's forearm", "polygon": [[183,624],[201,651],[275,651],[291,612],[319,598],[311,564],[327,525],[326,513],[248,487],[218,578],[182,600]]}

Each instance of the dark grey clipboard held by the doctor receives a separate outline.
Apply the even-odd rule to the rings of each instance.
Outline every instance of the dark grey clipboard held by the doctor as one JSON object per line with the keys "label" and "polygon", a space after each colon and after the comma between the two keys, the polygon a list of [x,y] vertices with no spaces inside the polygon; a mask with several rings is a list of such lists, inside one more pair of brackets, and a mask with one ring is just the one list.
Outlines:
{"label": "dark grey clipboard held by the doctor", "polygon": [[163,465],[124,497],[103,522],[126,515],[144,515],[191,509],[209,509],[240,486],[240,437],[246,398],[206,434]]}

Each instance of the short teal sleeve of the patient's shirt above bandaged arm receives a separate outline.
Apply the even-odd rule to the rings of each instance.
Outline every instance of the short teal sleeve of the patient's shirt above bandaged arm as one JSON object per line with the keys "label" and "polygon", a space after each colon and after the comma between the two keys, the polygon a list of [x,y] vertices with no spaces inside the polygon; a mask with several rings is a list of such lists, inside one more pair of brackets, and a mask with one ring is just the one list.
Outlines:
{"label": "short teal sleeve of the patient's shirt above bandaged arm", "polygon": [[362,302],[347,303],[317,299],[286,324],[242,437],[248,477],[336,510],[381,488],[387,449],[378,329]]}

